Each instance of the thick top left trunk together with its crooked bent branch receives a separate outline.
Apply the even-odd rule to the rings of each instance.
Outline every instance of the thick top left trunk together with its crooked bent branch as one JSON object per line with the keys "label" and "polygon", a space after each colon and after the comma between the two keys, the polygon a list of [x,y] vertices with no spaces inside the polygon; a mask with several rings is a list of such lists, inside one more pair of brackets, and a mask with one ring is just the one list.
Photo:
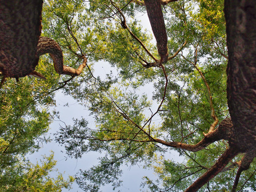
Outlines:
{"label": "thick top left trunk together with its crooked bent branch", "polygon": [[63,66],[58,43],[40,37],[42,5],[42,0],[0,0],[0,72],[4,78],[18,79],[26,75],[44,78],[35,67],[39,56],[45,53],[50,53],[59,74],[77,76],[86,66],[87,58],[83,55],[83,63],[78,69]]}

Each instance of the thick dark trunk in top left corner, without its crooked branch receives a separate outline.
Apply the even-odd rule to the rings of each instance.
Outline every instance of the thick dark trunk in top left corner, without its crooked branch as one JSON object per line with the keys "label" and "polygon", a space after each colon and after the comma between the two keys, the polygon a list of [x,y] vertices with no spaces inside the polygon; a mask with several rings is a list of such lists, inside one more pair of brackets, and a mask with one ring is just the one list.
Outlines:
{"label": "thick dark trunk in top left corner, without its crooked branch", "polygon": [[23,77],[38,63],[42,0],[0,0],[0,71],[5,77]]}

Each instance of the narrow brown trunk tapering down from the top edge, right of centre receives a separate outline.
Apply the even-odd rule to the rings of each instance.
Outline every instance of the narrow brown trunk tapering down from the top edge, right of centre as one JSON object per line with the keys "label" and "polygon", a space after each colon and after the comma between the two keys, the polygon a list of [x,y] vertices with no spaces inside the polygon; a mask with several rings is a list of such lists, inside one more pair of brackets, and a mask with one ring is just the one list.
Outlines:
{"label": "narrow brown trunk tapering down from the top edge, right of centre", "polygon": [[164,24],[164,17],[161,4],[158,0],[145,0],[145,5],[148,13],[153,34],[156,38],[158,54],[162,62],[167,62],[167,34]]}

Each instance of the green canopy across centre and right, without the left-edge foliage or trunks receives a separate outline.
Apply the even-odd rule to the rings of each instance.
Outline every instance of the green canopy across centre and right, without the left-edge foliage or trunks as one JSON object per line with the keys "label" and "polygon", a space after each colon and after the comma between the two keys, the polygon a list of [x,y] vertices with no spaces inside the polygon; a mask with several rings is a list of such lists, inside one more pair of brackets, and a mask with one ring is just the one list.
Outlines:
{"label": "green canopy across centre and right, without the left-edge foliage or trunks", "polygon": [[[81,49],[89,55],[92,74],[86,71],[86,78],[83,76],[82,81],[71,82],[64,89],[66,94],[73,95],[91,111],[96,123],[95,129],[89,129],[86,117],[74,119],[74,125],[61,127],[56,139],[71,157],[79,158],[89,151],[105,154],[99,159],[99,165],[77,175],[77,182],[84,190],[99,191],[100,185],[109,182],[116,188],[121,185],[120,166],[140,162],[152,166],[159,176],[157,181],[145,178],[144,186],[148,190],[185,190],[214,164],[225,150],[226,143],[214,142],[197,153],[178,150],[186,161],[175,163],[164,159],[164,152],[168,149],[152,142],[150,137],[195,144],[203,138],[203,132],[209,130],[213,123],[209,94],[193,63],[210,86],[215,114],[220,121],[228,117],[223,1],[186,0],[164,6],[170,56],[187,42],[185,48],[164,66],[169,80],[167,87],[162,69],[143,68],[143,60],[153,62],[153,59],[121,25],[123,18],[117,7],[126,17],[127,27],[154,57],[158,57],[151,29],[143,30],[143,23],[137,18],[137,12],[146,13],[145,7],[127,3],[89,1],[82,5],[81,1],[69,1],[66,5],[62,1],[46,2],[45,35],[57,39],[67,55],[72,54],[69,45],[78,53],[79,48],[67,30],[66,19],[73,27],[72,33]],[[109,74],[102,81],[93,76],[93,67],[106,61],[116,69],[117,75]],[[154,84],[149,88],[153,98],[140,92],[148,83]],[[165,99],[157,111],[165,89]],[[161,121],[154,122],[155,117]],[[157,160],[159,158],[161,161]],[[234,178],[234,173],[234,170],[221,173],[209,183],[209,187],[230,190],[232,183],[223,178]]]}

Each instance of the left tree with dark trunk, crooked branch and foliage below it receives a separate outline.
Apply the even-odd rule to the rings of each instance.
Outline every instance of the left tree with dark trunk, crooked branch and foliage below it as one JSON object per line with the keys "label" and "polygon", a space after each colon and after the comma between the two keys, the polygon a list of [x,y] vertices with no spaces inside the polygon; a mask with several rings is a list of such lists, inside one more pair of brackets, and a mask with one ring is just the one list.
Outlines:
{"label": "left tree with dark trunk, crooked branch and foliage below it", "polygon": [[[42,4],[42,0],[0,1],[0,73],[3,76],[0,83],[1,191],[60,191],[61,188],[70,188],[70,182],[74,181],[73,178],[69,182],[63,180],[61,174],[58,179],[48,176],[55,165],[53,156],[46,158],[49,162],[43,167],[33,165],[25,158],[42,143],[50,141],[45,138],[45,133],[53,118],[49,107],[54,105],[54,91],[79,75],[86,65],[86,58],[82,56],[80,59],[83,58],[84,62],[77,70],[63,66],[59,45],[50,38],[39,37]],[[45,53],[51,54],[54,69],[59,74],[72,77],[61,82],[52,75],[53,68],[46,67],[49,60],[41,59],[44,64],[37,66],[39,55]],[[44,78],[36,73],[36,66],[45,71],[47,82],[22,78],[19,83],[12,80],[4,83],[6,77],[15,77],[17,82],[19,77],[31,74]],[[58,86],[59,81],[61,86]]]}

